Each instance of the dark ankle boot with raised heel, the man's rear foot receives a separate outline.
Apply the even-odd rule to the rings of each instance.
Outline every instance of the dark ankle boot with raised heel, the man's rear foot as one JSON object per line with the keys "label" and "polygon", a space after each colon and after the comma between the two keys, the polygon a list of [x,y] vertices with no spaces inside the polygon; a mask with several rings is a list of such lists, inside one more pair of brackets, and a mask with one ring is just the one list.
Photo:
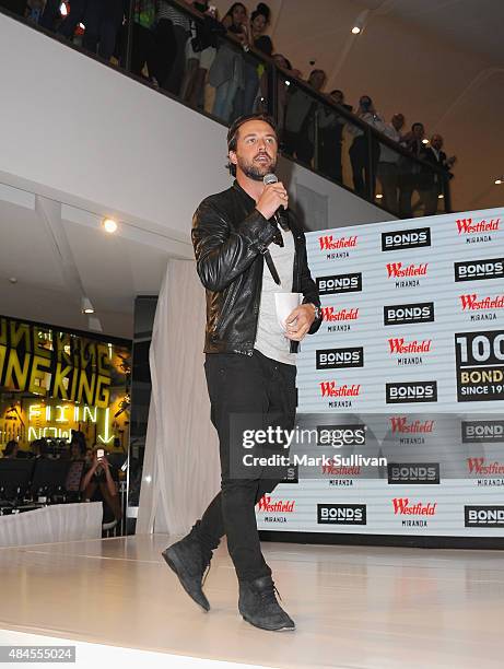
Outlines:
{"label": "dark ankle boot with raised heel, the man's rear foot", "polygon": [[[211,556],[203,558],[201,544],[191,533],[172,544],[162,553],[166,564],[178,576],[181,587],[204,611],[210,611],[210,603],[202,586],[207,567],[210,571]],[[208,572],[207,572],[208,574]]]}

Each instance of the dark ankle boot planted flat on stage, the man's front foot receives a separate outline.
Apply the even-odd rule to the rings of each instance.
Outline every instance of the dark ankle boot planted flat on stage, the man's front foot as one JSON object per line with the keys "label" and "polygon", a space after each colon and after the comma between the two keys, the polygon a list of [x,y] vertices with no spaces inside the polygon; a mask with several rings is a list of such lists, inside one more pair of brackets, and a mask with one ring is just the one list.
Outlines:
{"label": "dark ankle boot planted flat on stage, the man's front foot", "polygon": [[295,630],[294,621],[277,601],[276,592],[271,576],[241,580],[238,610],[243,619],[261,630]]}

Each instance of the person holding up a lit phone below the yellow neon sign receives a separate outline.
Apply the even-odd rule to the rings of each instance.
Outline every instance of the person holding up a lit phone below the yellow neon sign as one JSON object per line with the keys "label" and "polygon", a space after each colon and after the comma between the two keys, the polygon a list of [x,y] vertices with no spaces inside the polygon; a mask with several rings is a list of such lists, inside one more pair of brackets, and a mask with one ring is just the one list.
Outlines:
{"label": "person holding up a lit phone below the yellow neon sign", "polygon": [[93,459],[81,483],[84,498],[103,503],[104,530],[115,527],[122,517],[118,494],[118,473],[108,462],[105,449],[95,447]]}

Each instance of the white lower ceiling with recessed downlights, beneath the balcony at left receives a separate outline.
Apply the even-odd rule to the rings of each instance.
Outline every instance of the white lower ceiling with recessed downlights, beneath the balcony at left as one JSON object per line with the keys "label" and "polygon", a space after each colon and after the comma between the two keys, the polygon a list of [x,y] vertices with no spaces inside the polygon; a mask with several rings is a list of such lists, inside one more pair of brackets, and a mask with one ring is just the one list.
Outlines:
{"label": "white lower ceiling with recessed downlights, beneath the balcony at left", "polygon": [[85,295],[104,333],[132,338],[134,297],[159,294],[168,250],[152,233],[142,243],[128,238],[127,228],[107,235],[99,223],[2,186],[0,315],[93,331],[81,313]]}

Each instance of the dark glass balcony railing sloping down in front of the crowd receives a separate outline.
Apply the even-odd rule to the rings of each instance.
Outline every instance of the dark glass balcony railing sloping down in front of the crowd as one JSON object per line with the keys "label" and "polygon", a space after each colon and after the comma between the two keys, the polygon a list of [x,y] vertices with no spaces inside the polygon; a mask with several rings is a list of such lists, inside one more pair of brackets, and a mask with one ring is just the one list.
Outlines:
{"label": "dark glass balcony railing sloping down in front of the crowd", "polygon": [[284,155],[398,218],[452,210],[447,171],[389,139],[380,118],[352,114],[251,47],[237,26],[226,30],[194,8],[204,3],[47,0],[34,10],[38,4],[0,0],[0,10],[225,125],[268,113]]}

